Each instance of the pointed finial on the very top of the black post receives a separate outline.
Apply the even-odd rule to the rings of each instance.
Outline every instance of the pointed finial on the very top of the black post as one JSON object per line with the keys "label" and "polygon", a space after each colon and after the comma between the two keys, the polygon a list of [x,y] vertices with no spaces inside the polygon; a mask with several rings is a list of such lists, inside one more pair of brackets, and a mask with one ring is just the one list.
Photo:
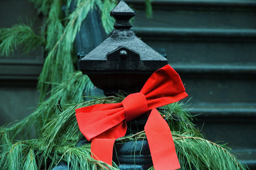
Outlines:
{"label": "pointed finial on the very top of the black post", "polygon": [[114,24],[115,29],[131,28],[132,26],[129,20],[134,17],[134,15],[135,12],[123,0],[110,12],[110,16],[116,20]]}

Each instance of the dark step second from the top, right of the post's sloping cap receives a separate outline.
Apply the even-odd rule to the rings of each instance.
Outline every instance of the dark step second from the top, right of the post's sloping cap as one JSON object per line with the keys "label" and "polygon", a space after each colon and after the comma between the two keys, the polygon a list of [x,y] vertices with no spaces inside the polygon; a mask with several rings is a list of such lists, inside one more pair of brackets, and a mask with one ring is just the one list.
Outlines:
{"label": "dark step second from the top, right of the post's sloping cap", "polygon": [[[238,30],[234,31],[234,34],[227,32],[226,30],[226,35],[223,32],[216,33],[224,36],[222,38],[218,36],[204,37],[203,35],[189,37],[182,35],[182,33],[175,33],[176,35],[173,37],[158,34],[153,38],[151,35],[137,35],[149,46],[165,48],[167,59],[171,65],[232,64],[256,66],[256,30],[251,31],[248,35],[246,35],[247,33],[239,34]],[[198,32],[198,34],[201,33]],[[211,35],[213,32],[207,34]],[[197,35],[191,34],[191,36]],[[230,39],[225,36],[230,36]]]}

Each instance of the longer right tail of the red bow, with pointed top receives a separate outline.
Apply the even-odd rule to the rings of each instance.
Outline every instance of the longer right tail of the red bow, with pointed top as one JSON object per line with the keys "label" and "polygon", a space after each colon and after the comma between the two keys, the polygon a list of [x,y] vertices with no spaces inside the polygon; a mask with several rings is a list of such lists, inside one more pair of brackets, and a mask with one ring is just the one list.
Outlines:
{"label": "longer right tail of the red bow, with pointed top", "polygon": [[180,163],[172,133],[157,109],[152,109],[145,125],[145,133],[155,170],[177,170]]}

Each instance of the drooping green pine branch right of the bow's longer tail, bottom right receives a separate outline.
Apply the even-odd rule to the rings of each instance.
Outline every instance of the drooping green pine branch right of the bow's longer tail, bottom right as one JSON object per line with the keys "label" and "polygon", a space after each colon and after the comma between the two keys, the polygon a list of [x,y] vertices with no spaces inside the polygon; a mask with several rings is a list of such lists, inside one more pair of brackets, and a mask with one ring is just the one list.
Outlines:
{"label": "drooping green pine branch right of the bow's longer tail, bottom right", "polygon": [[[182,169],[200,170],[246,170],[227,149],[225,145],[219,145],[204,138],[180,135],[174,137],[176,151]],[[180,137],[182,136],[182,137]]]}

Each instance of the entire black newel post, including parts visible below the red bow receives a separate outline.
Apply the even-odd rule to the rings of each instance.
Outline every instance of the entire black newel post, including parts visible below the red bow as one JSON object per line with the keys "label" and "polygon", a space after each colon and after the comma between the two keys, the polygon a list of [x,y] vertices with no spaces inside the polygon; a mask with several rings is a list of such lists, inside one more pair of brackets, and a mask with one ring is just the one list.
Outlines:
{"label": "entire black newel post, including parts visible below the red bow", "polygon": [[[135,12],[124,1],[110,15],[116,20],[114,30],[92,51],[80,49],[79,68],[107,96],[119,90],[127,94],[139,92],[149,76],[168,63],[165,50],[152,49],[136,37],[129,22]],[[147,115],[142,115],[128,122],[127,135],[144,130],[146,120]],[[147,170],[153,166],[145,140],[115,144],[113,161],[121,170]]]}

